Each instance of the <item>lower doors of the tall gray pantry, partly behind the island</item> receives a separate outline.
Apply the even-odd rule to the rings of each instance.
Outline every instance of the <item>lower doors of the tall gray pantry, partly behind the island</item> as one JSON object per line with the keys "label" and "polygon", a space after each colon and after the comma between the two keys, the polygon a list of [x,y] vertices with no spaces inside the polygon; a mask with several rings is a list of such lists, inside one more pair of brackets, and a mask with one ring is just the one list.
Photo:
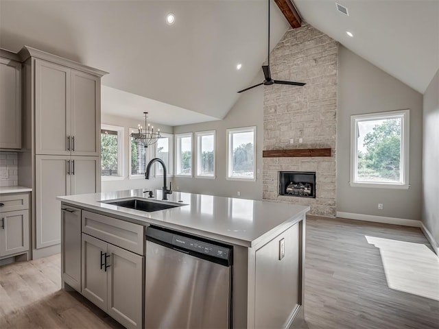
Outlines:
{"label": "lower doors of the tall gray pantry, partly behind the island", "polygon": [[36,248],[60,243],[59,195],[96,193],[100,190],[99,157],[36,156]]}

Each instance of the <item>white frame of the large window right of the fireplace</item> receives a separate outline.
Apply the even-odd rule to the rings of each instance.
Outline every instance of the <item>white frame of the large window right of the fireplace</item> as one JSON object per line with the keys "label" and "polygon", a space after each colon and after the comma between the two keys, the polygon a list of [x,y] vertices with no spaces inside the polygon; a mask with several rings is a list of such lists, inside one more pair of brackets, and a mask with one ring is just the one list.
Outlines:
{"label": "white frame of the large window right of the fireplace", "polygon": [[[401,162],[400,173],[402,182],[362,182],[357,181],[358,169],[358,125],[360,121],[373,121],[383,119],[399,119],[401,118]],[[350,186],[368,187],[368,188],[400,188],[407,189],[409,184],[409,162],[410,162],[410,110],[396,110],[388,112],[377,112],[368,114],[351,115],[351,180]]]}

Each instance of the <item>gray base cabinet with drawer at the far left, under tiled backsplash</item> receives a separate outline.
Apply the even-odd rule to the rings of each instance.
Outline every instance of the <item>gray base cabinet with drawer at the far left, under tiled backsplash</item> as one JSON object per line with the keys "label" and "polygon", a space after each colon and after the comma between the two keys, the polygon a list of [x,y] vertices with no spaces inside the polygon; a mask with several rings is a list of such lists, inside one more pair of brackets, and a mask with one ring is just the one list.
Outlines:
{"label": "gray base cabinet with drawer at the far left, under tiled backsplash", "polygon": [[0,195],[0,258],[29,250],[29,196]]}

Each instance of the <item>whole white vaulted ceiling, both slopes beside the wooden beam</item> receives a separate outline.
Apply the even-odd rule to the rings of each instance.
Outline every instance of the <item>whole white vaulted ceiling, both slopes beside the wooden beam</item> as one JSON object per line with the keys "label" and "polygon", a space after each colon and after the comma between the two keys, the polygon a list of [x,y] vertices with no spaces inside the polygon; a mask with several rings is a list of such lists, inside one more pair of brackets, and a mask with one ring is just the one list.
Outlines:
{"label": "whole white vaulted ceiling, both slopes beside the wooden beam", "polygon": [[[333,0],[294,1],[305,21],[423,93],[439,67],[439,1],[337,2],[349,16]],[[169,12],[174,25],[165,23]],[[237,90],[260,74],[267,24],[266,0],[0,0],[1,48],[29,45],[108,71],[102,84],[110,87],[110,112],[141,118],[148,110],[154,121],[156,108],[156,122],[171,116],[173,125],[226,115]],[[272,48],[288,28],[272,1]],[[127,93],[156,106],[136,97],[148,107],[137,111],[126,106]]]}

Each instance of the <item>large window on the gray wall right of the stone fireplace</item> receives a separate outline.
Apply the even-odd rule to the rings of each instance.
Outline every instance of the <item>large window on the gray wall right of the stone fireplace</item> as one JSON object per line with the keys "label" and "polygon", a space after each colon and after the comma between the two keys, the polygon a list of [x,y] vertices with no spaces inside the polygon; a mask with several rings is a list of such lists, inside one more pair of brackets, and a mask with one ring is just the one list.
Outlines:
{"label": "large window on the gray wall right of the stone fireplace", "polygon": [[409,110],[351,117],[351,186],[408,188]]}

